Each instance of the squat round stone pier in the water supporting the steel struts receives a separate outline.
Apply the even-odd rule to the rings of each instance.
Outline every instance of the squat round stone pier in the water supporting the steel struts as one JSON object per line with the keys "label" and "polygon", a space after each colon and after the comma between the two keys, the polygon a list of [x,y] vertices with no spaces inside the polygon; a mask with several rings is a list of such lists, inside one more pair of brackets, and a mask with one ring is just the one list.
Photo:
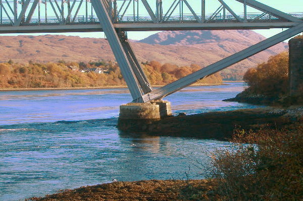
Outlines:
{"label": "squat round stone pier in the water supporting the steel struts", "polygon": [[118,127],[128,131],[146,131],[147,124],[172,115],[168,101],[128,103],[120,105]]}

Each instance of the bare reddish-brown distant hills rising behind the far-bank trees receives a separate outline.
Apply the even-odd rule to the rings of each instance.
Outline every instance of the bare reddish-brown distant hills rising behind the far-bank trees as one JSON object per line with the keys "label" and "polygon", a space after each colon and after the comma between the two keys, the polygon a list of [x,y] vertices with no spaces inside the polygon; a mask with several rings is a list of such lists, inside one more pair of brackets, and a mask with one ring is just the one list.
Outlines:
{"label": "bare reddish-brown distant hills rising behind the far-bank trees", "polygon": [[[234,52],[265,39],[254,31],[165,31],[132,42],[140,61],[157,60],[177,65],[207,66]],[[221,75],[225,79],[240,78],[248,68],[265,62],[269,56],[287,50],[278,44],[242,62]],[[108,41],[102,38],[77,36],[0,36],[0,61],[96,61],[115,60]]]}

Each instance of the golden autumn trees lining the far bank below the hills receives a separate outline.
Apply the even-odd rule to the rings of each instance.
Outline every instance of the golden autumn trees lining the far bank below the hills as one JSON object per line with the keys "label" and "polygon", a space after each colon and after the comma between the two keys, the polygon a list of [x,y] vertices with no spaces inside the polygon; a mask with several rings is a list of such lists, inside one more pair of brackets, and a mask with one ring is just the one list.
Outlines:
{"label": "golden autumn trees lining the far bank below the hills", "polygon": [[[68,66],[75,66],[73,71]],[[200,69],[198,65],[177,66],[157,61],[145,62],[143,70],[151,85],[165,85]],[[102,68],[106,73],[81,73],[83,69]],[[27,64],[11,60],[0,63],[0,88],[66,88],[124,86],[125,81],[116,62],[48,62]],[[212,75],[197,84],[222,84],[219,74]]]}

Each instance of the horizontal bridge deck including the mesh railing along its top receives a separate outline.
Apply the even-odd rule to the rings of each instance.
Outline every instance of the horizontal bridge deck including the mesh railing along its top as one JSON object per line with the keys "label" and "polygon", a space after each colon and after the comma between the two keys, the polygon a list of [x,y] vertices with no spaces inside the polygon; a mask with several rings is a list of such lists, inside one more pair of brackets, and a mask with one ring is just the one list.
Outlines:
{"label": "horizontal bridge deck including the mesh railing along its top", "polygon": [[[291,14],[303,20],[303,13]],[[270,16],[247,15],[247,22],[238,22],[233,16],[217,16],[215,19],[206,17],[205,22],[198,22],[193,16],[171,16],[165,21],[154,23],[150,17],[124,16],[114,23],[116,28],[123,31],[164,31],[164,30],[224,30],[224,29],[270,29],[290,28],[296,22]],[[239,16],[244,19],[244,16]],[[258,19],[256,19],[258,18]],[[73,19],[73,17],[71,17]],[[96,16],[76,16],[73,21],[62,23],[55,17],[32,18],[28,23],[15,26],[9,19],[0,20],[0,33],[43,33],[43,32],[93,32],[103,31]]]}

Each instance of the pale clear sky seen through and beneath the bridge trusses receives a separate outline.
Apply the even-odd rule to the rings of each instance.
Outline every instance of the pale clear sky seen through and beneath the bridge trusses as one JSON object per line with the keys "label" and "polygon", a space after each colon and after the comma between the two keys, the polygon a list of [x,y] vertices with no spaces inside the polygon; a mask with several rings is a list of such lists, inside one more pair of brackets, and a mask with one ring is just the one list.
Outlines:
{"label": "pale clear sky seen through and beneath the bridge trusses", "polygon": [[[163,7],[164,8],[169,8],[169,6],[171,5],[171,2],[173,0],[164,0],[163,1]],[[303,14],[303,0],[258,0],[259,2],[266,4],[270,7],[273,7],[275,9],[278,9],[282,12],[285,13],[301,13]],[[148,0],[148,2],[152,2],[151,3],[151,8],[156,7],[155,5],[153,5],[156,1],[153,0]],[[192,6],[193,3],[195,2],[193,9],[195,10],[195,12],[201,13],[201,11],[199,10],[199,8],[201,8],[200,6],[200,2],[199,0],[188,0],[189,4]],[[241,14],[243,13],[243,4],[240,4],[238,2],[236,2],[235,0],[225,0],[225,3],[232,8],[233,11],[235,11],[237,14]],[[118,1],[118,4],[122,4],[122,1]],[[144,15],[144,12],[142,10],[144,10],[142,7],[142,5],[140,6],[140,14]],[[216,11],[216,9],[220,6],[220,4],[218,3],[217,0],[206,0],[206,13],[207,14],[211,14],[214,11]],[[185,11],[186,12],[186,11]],[[252,9],[250,7],[247,8],[247,12],[249,13],[254,13],[257,12],[255,9]],[[188,10],[189,13],[189,10]],[[126,13],[127,14],[127,13]],[[83,15],[83,13],[82,13]],[[147,12],[146,12],[147,15]],[[277,33],[280,33],[282,31],[282,29],[266,29],[266,30],[255,30],[257,33],[262,34],[265,37],[271,37]],[[157,31],[140,31],[140,32],[128,32],[128,38],[133,39],[133,40],[141,40],[143,38],[146,38],[152,34],[158,33]],[[39,33],[39,34],[0,34],[1,35],[44,35],[44,34],[55,34],[55,35],[69,35],[69,36],[80,36],[80,37],[92,37],[92,38],[104,38],[105,34],[103,32],[85,32],[85,33]]]}

